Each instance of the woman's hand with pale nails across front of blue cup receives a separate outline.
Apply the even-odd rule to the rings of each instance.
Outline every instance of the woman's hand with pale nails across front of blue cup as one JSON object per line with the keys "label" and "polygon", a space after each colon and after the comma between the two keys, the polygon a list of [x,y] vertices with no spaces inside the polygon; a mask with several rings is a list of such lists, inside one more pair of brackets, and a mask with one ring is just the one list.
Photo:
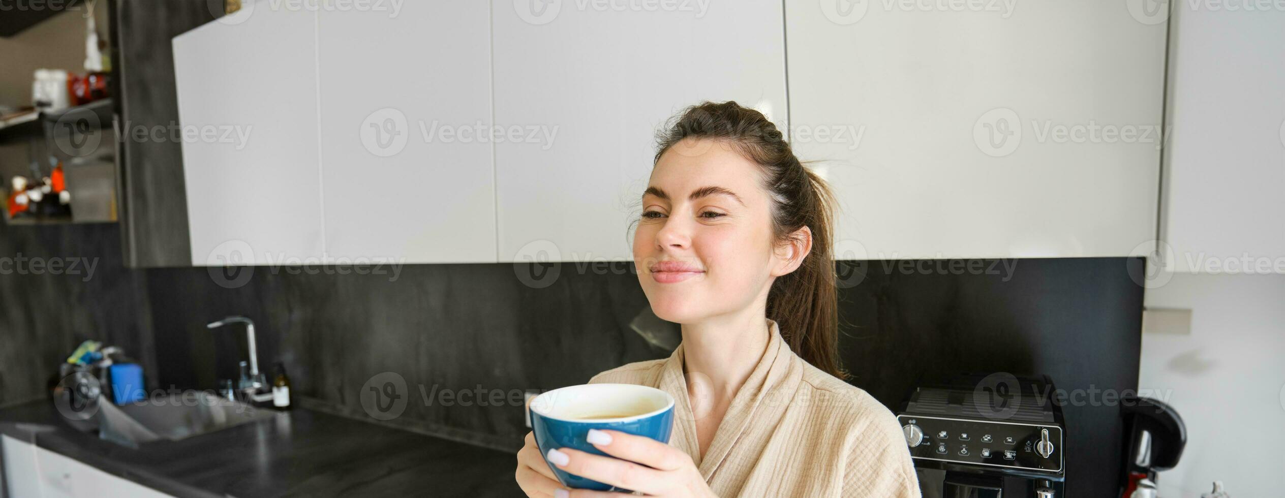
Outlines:
{"label": "woman's hand with pale nails across front of blue cup", "polygon": [[[649,497],[717,498],[691,457],[678,448],[614,430],[591,429],[587,439],[595,448],[616,458],[556,448],[549,451],[549,461],[581,477],[632,489]],[[556,486],[555,493],[555,498],[630,497],[590,489],[572,489],[564,494],[562,485]]]}

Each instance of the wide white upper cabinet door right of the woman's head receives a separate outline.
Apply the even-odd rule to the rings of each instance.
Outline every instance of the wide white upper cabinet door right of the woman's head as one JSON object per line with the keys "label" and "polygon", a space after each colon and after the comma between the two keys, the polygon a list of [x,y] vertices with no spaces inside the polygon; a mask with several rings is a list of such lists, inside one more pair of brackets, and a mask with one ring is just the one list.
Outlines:
{"label": "wide white upper cabinet door right of the woman's head", "polygon": [[1163,22],[1118,0],[785,10],[792,136],[839,196],[838,258],[1121,257],[1155,239]]}

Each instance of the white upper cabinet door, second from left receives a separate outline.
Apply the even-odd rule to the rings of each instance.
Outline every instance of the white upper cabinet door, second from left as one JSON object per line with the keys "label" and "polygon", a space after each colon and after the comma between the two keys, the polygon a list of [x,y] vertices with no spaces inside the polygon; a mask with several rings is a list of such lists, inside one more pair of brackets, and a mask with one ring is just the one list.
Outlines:
{"label": "white upper cabinet door, second from left", "polygon": [[373,5],[319,14],[326,253],[493,263],[490,6]]}

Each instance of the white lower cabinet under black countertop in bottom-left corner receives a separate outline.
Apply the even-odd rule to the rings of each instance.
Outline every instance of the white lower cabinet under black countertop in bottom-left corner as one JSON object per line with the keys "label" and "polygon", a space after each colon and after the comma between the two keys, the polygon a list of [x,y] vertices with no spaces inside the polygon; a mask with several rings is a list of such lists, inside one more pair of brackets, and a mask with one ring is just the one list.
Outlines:
{"label": "white lower cabinet under black countertop in bottom-left corner", "polygon": [[5,484],[14,498],[167,498],[72,458],[3,436]]}

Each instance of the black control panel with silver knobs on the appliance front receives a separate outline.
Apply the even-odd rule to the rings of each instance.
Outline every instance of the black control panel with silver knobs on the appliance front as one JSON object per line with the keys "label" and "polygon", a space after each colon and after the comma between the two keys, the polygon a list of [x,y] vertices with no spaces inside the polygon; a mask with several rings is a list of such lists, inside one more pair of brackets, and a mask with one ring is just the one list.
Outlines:
{"label": "black control panel with silver knobs on the appliance front", "polygon": [[919,459],[1060,472],[1063,433],[1034,425],[902,415],[910,456]]}

